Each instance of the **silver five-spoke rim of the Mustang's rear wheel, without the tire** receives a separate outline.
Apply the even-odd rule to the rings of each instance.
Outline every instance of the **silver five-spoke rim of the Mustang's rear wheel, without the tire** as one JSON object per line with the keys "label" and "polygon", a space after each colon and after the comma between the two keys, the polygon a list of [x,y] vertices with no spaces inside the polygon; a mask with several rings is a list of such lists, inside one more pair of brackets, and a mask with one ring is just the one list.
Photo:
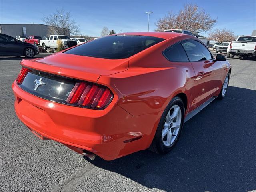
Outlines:
{"label": "silver five-spoke rim of the Mustang's rear wheel, without the tire", "polygon": [[162,130],[162,141],[165,146],[171,146],[179,133],[182,113],[180,106],[174,105],[167,113]]}

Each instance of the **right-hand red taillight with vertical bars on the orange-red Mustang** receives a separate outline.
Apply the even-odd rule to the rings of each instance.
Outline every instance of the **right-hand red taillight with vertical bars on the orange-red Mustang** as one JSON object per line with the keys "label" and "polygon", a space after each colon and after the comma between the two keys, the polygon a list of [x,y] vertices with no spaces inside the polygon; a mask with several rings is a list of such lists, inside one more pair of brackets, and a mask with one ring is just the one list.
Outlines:
{"label": "right-hand red taillight with vertical bars on the orange-red Mustang", "polygon": [[86,108],[103,109],[108,106],[112,98],[112,92],[106,87],[87,82],[77,82],[66,99],[66,103]]}

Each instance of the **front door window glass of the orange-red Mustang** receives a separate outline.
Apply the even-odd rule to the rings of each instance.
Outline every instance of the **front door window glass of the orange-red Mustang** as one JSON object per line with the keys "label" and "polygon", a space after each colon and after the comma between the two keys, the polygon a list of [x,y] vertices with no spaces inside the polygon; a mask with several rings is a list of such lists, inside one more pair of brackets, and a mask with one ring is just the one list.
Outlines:
{"label": "front door window glass of the orange-red Mustang", "polygon": [[186,42],[183,42],[182,46],[184,47],[191,62],[212,59],[212,54],[203,44],[198,41],[188,40]]}

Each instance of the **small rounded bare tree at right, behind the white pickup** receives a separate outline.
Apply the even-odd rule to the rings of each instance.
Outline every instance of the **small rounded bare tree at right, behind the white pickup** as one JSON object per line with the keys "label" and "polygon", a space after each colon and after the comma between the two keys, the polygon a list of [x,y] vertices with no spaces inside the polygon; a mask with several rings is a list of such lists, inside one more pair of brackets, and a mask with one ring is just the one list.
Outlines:
{"label": "small rounded bare tree at right, behind the white pickup", "polygon": [[215,29],[210,32],[209,39],[215,40],[219,43],[230,42],[236,40],[236,36],[234,33],[228,29]]}

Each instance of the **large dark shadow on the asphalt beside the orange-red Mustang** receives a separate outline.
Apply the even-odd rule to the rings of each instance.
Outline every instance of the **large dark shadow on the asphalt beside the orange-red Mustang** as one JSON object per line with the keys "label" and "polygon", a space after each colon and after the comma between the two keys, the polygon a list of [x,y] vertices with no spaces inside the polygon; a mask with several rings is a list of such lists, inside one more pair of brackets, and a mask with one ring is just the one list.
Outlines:
{"label": "large dark shadow on the asphalt beside the orange-red Mustang", "polygon": [[165,191],[251,191],[256,189],[256,91],[228,88],[184,124],[172,152],[144,150],[90,163],[148,188]]}

